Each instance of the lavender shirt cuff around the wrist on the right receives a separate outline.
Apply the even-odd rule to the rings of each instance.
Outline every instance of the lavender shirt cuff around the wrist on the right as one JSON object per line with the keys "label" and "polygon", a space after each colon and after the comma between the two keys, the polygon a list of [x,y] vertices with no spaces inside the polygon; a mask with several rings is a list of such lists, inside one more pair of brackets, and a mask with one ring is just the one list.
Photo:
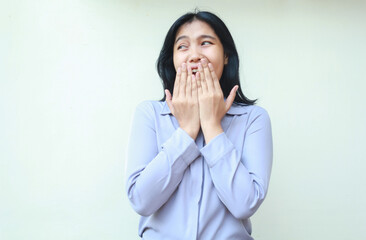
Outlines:
{"label": "lavender shirt cuff around the wrist on the right", "polygon": [[223,132],[212,139],[206,146],[201,148],[201,154],[205,158],[208,166],[212,168],[220,159],[223,159],[223,157],[233,149],[234,145]]}

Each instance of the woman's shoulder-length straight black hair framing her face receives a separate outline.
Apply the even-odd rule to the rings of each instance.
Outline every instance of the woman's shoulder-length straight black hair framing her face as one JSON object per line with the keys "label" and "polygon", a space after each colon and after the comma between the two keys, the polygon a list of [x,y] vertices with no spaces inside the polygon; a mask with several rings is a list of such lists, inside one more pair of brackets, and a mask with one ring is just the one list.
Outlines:
{"label": "woman's shoulder-length straight black hair framing her face", "polygon": [[[163,83],[163,88],[168,89],[171,93],[173,93],[174,80],[176,75],[173,63],[173,47],[176,34],[178,29],[183,24],[191,23],[194,20],[200,20],[210,25],[210,27],[215,31],[216,35],[219,37],[223,45],[224,54],[228,58],[228,62],[224,65],[224,69],[220,79],[220,85],[224,97],[228,97],[231,89],[235,85],[238,85],[239,88],[236,92],[234,102],[245,105],[255,104],[256,100],[248,99],[241,90],[239,79],[239,56],[238,52],[236,51],[234,39],[231,36],[229,29],[219,17],[217,17],[213,13],[206,11],[195,11],[186,13],[178,18],[170,27],[165,37],[165,41],[156,64],[158,74]],[[161,99],[161,101],[165,101],[165,98],[166,96],[164,94],[164,97],[163,99]]]}

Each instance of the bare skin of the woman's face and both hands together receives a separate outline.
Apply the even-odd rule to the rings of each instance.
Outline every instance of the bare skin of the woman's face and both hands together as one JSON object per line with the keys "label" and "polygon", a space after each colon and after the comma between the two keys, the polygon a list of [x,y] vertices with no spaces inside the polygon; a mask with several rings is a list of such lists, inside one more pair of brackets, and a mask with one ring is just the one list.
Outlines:
{"label": "bare skin of the woman's face and both hands together", "polygon": [[223,132],[221,120],[238,89],[234,86],[224,100],[219,79],[227,60],[220,39],[207,23],[194,20],[177,31],[173,51],[177,75],[173,95],[165,90],[166,101],[180,128],[193,139],[202,129],[206,144]]}

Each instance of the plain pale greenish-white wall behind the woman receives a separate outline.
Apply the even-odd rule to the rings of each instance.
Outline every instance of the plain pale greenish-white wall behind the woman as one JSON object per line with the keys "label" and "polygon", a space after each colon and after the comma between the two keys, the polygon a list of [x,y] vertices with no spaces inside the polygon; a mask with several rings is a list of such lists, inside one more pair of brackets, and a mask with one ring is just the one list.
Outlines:
{"label": "plain pale greenish-white wall behind the woman", "polygon": [[131,117],[163,96],[165,34],[196,7],[227,24],[272,120],[255,239],[366,238],[365,1],[0,0],[0,239],[138,239]]}

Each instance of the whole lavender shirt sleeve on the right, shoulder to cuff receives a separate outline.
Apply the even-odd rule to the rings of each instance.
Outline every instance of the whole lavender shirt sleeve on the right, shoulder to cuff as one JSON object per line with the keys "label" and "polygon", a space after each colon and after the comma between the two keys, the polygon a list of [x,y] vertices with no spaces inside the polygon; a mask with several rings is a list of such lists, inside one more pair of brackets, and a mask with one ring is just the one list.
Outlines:
{"label": "whole lavender shirt sleeve on the right, shoulder to cuff", "polygon": [[237,219],[252,216],[263,202],[272,167],[272,133],[267,112],[256,108],[248,118],[242,151],[225,133],[201,149],[220,200]]}

